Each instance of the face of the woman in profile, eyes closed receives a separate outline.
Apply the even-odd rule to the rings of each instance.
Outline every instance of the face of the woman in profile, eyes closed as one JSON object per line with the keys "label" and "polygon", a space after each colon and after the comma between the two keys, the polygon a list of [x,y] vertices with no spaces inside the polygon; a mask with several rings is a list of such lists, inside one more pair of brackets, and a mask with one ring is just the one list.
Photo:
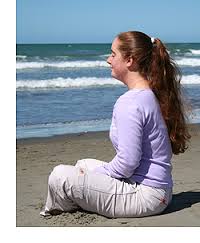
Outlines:
{"label": "face of the woman in profile, eyes closed", "polygon": [[118,46],[119,46],[119,40],[118,38],[115,38],[111,47],[111,55],[108,57],[107,63],[111,67],[112,77],[123,82],[124,77],[127,73],[127,65],[126,65],[127,62],[121,55]]}

